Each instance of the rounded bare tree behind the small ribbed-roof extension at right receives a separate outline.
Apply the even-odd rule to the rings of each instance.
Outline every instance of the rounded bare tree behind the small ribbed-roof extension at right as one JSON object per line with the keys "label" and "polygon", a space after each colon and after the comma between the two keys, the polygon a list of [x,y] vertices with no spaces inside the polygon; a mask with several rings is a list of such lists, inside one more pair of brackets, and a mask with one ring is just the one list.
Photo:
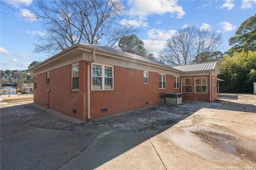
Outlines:
{"label": "rounded bare tree behind the small ribbed-roof extension at right", "polygon": [[187,65],[208,61],[220,48],[222,35],[216,31],[188,26],[167,40],[159,53],[168,65]]}

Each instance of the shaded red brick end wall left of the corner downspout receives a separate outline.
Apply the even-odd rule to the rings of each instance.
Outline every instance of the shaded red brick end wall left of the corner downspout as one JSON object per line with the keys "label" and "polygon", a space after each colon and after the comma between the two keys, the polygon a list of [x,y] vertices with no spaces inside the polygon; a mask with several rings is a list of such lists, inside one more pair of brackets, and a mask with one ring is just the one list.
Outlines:
{"label": "shaded red brick end wall left of the corner downspout", "polygon": [[[86,65],[84,61],[79,63],[79,85],[81,90],[71,90],[71,65],[67,65],[50,71],[50,83],[46,85],[46,73],[37,75],[37,89],[34,90],[34,103],[48,107],[46,105],[49,94],[49,109],[54,109],[58,112],[75,117],[76,119],[84,120],[84,109],[87,108],[87,100],[85,99],[84,76],[87,73],[82,65]],[[50,92],[47,92],[50,89]],[[86,103],[86,104],[85,104]],[[76,110],[76,114],[73,113]]]}

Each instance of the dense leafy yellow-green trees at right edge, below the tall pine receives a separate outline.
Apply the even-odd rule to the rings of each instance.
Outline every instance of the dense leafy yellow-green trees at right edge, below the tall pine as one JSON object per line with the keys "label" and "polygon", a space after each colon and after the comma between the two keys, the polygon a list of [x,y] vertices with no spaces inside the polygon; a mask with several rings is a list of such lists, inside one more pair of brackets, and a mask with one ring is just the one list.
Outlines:
{"label": "dense leafy yellow-green trees at right edge, below the tall pine", "polygon": [[219,64],[221,92],[248,93],[253,90],[256,82],[256,51],[234,52],[233,56],[226,55]]}

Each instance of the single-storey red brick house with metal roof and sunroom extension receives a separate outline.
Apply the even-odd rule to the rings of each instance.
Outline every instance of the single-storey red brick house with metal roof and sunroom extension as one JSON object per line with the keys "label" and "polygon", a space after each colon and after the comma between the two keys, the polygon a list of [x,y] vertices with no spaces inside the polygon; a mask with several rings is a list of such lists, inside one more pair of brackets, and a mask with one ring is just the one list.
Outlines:
{"label": "single-storey red brick house with metal roof and sunroom extension", "polygon": [[27,71],[34,103],[82,121],[157,105],[165,93],[214,101],[217,62],[170,67],[101,45],[75,44]]}

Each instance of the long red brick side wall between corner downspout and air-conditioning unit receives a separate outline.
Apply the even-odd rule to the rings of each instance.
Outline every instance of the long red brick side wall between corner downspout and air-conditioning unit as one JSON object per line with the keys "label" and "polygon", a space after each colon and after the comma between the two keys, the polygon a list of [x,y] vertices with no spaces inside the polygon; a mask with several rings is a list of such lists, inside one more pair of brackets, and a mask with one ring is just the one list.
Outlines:
{"label": "long red brick side wall between corner downspout and air-conditioning unit", "polygon": [[[91,93],[91,118],[157,105],[174,86],[174,77],[166,75],[166,89],[159,89],[158,77],[158,73],[149,72],[149,83],[144,84],[143,70],[114,66],[114,90]],[[108,112],[101,113],[106,108]]]}

